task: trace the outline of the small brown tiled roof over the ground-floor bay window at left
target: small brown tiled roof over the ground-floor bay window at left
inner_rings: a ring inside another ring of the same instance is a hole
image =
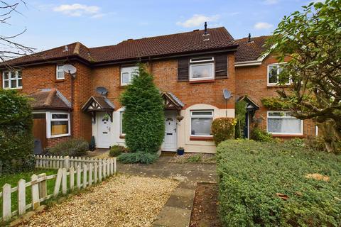
[[[41,89],[29,95],[33,109],[71,109],[71,104],[57,89]]]

